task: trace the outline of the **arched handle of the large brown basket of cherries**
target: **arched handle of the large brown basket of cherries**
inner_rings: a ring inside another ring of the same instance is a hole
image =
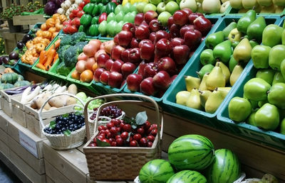
[[[111,97],[136,97],[138,99],[145,99],[146,101],[149,101],[154,107],[155,107],[155,111],[156,111],[156,117],[157,117],[157,123],[158,123],[158,127],[161,125],[161,130],[163,129],[163,114],[162,114],[162,118],[160,121],[160,107],[157,105],[156,101],[152,98],[150,98],[150,96],[144,96],[144,95],[139,95],[139,94],[107,94],[107,95],[102,95],[102,96],[97,96],[93,99],[90,99],[89,101],[86,102],[86,105],[84,106],[84,116],[85,117],[85,123],[86,123],[86,135],[87,135],[87,140],[90,140],[90,129],[89,129],[89,124],[88,124],[88,104],[90,103],[90,101],[93,101],[95,99],[105,99],[105,98],[111,98]],[[131,101],[131,100],[129,100]],[[117,101],[117,102],[124,102],[124,101]],[[138,102],[138,101],[137,101]],[[142,101],[140,101],[142,102]],[[108,103],[102,104],[98,107],[98,111],[97,113],[100,113],[100,110],[103,108],[103,106],[108,105]],[[96,115],[95,118],[95,129],[96,130],[96,125],[98,122],[98,118],[99,115]],[[160,128],[157,128],[157,134],[160,136],[160,138],[162,138],[162,133],[160,134]],[[160,144],[160,138],[158,138],[158,143]]]

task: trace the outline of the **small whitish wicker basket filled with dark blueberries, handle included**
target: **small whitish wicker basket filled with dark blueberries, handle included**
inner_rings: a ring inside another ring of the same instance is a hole
[[[56,116],[46,126],[43,124],[41,112],[50,99],[56,96],[68,95],[76,98],[84,106],[84,102],[73,94],[63,93],[50,96],[39,110],[39,121],[43,135],[50,141],[51,147],[56,150],[68,150],[82,145],[86,136],[84,116],[73,107],[71,111],[62,111],[61,116]],[[78,107],[78,105],[75,105]],[[81,106],[82,107],[82,106]],[[61,110],[61,109],[58,109]]]

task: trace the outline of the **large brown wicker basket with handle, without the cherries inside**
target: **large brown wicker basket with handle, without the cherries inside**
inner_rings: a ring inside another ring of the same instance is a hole
[[[114,104],[123,104],[129,103],[132,105],[144,104],[148,106],[152,106],[155,108],[155,118],[149,118],[148,120],[152,123],[161,124],[160,128],[157,129],[157,135],[155,137],[155,141],[153,142],[152,148],[130,148],[130,147],[89,147],[90,142],[95,138],[98,134],[98,118],[96,116],[95,119],[95,133],[90,138],[90,131],[88,128],[88,118],[85,118],[86,121],[86,133],[88,142],[83,147],[83,151],[86,155],[86,160],[88,164],[88,170],[90,179],[130,179],[133,180],[138,176],[140,172],[140,168],[145,165],[146,162],[160,158],[161,156],[161,148],[160,148],[160,140],[162,139],[162,129],[163,129],[163,114],[160,118],[160,108],[157,103],[150,98],[149,96],[142,96],[138,94],[109,94],[105,96],[98,96],[95,99],[100,98],[112,98],[112,97],[135,97],[140,100],[120,100],[120,101],[110,101],[105,104],[102,104],[98,108],[98,112],[100,112],[105,106],[110,106]],[[92,101],[91,99],[90,101]],[[88,115],[87,106],[89,104],[88,101],[86,103],[84,109],[84,115]],[[135,108],[134,108],[135,109]],[[128,114],[126,114],[128,115]]]

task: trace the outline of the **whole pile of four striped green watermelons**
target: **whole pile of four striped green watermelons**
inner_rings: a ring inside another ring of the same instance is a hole
[[[147,162],[140,170],[140,182],[230,183],[241,176],[237,155],[228,149],[214,150],[212,142],[202,135],[174,140],[168,148],[168,160]]]

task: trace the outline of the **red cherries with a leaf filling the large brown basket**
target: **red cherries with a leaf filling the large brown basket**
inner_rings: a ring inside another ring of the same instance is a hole
[[[114,112],[112,110],[114,110]],[[103,116],[110,115],[109,111],[112,111],[111,113],[118,113],[118,109],[115,109],[115,107],[105,108]],[[120,113],[118,113],[118,115],[119,114]],[[113,118],[106,126],[98,126],[98,134],[88,146],[152,148],[152,144],[157,135],[157,128],[157,124],[151,124],[147,121],[145,111],[138,113],[135,119],[131,120],[128,118],[124,118],[123,120]]]

